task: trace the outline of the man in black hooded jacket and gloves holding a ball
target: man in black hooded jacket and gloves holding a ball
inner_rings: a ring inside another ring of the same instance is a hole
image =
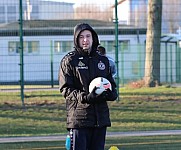
[[[86,23],[74,28],[75,50],[60,63],[60,92],[66,99],[67,129],[72,136],[73,150],[104,150],[107,127],[111,126],[107,101],[117,98],[116,84],[109,70],[107,57],[97,53],[97,33]],[[89,93],[89,84],[96,77],[108,79],[112,91]]]

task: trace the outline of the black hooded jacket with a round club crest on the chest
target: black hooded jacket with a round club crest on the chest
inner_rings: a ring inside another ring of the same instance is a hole
[[[93,43],[90,53],[85,53],[78,44],[78,37],[83,30],[92,33]],[[98,36],[91,26],[81,23],[74,28],[75,50],[61,60],[59,68],[59,88],[66,100],[67,128],[87,128],[111,126],[109,108],[106,101],[89,104],[89,84],[96,77],[107,78],[116,92],[109,60],[97,52]],[[113,99],[115,100],[115,99]]]

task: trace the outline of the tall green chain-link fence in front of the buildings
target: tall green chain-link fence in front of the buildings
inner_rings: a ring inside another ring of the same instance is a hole
[[[180,35],[173,21],[165,18],[169,1],[163,3],[163,37],[161,39],[161,82],[181,82]],[[180,23],[180,3],[171,4],[177,12],[173,20]],[[130,6],[125,7],[125,6]],[[87,22],[97,31],[107,55],[118,63],[119,85],[144,77],[147,1],[58,2],[23,0],[0,2],[0,85],[1,89],[19,88],[21,74],[25,88],[58,86],[61,58],[73,50],[73,27]],[[124,12],[123,12],[124,8]],[[170,8],[170,7],[169,7]],[[21,11],[20,11],[21,10]],[[20,14],[22,12],[22,14]],[[116,29],[115,13],[118,16]],[[23,25],[23,55],[20,53],[20,23]],[[172,35],[169,24],[173,25]],[[116,39],[115,32],[118,30]],[[179,30],[180,31],[180,30]],[[116,40],[118,49],[116,49]],[[116,53],[117,51],[117,53]],[[116,56],[118,55],[118,57]],[[21,58],[23,57],[23,62]],[[118,60],[116,60],[118,58]],[[23,64],[22,64],[23,63]],[[24,70],[21,72],[21,65]]]

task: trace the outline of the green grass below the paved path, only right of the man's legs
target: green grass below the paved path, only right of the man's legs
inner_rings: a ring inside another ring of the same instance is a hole
[[[107,139],[105,149],[109,149],[111,146],[117,146],[119,150],[179,150],[181,147],[181,136],[146,136]]]

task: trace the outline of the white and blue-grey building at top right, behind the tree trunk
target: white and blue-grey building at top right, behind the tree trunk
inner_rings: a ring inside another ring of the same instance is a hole
[[[147,27],[148,0],[119,0],[119,24]],[[181,27],[181,1],[163,0],[162,2],[162,33],[176,33]],[[115,9],[115,5],[112,7]],[[113,11],[115,13],[115,11]],[[115,14],[113,14],[115,16]],[[115,18],[115,17],[114,17]]]

